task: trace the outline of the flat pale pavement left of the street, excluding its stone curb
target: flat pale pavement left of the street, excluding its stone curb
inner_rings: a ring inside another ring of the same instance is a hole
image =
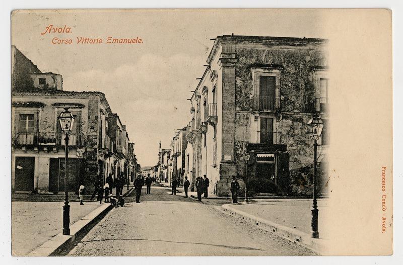
[[[12,254],[29,252],[62,231],[63,203],[61,202],[12,202]],[[91,213],[100,205],[87,202],[70,203],[70,224]]]

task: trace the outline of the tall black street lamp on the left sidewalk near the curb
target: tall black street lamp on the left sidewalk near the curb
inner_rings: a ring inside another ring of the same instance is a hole
[[[65,160],[64,160],[64,205],[63,205],[63,235],[70,235],[70,205],[67,191],[67,180],[69,178],[69,133],[72,131],[74,117],[69,108],[64,108],[59,115],[59,122],[62,132],[65,134]]]

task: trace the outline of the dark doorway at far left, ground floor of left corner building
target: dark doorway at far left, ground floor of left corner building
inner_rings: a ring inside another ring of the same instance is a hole
[[[32,192],[34,190],[35,157],[16,157],[15,190]]]

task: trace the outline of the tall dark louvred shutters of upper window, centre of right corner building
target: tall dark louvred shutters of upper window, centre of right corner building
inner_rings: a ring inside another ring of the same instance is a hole
[[[259,108],[274,110],[276,102],[276,77],[260,76],[259,79]]]

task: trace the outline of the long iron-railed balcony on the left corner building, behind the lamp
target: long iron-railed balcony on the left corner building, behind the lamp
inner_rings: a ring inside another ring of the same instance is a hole
[[[13,144],[64,146],[64,137],[65,135],[62,132],[16,132],[13,137]],[[84,146],[82,133],[70,133],[69,145]]]

